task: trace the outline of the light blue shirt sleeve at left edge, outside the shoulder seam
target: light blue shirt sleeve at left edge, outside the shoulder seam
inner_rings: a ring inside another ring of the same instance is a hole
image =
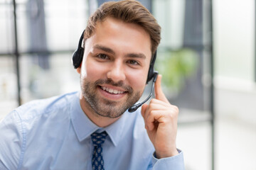
[[[16,111],[0,121],[0,169],[18,169],[21,164],[22,129],[21,119]]]

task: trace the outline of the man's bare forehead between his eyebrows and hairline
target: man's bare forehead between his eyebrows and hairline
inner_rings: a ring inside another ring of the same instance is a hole
[[[97,22],[94,33],[87,40],[90,39],[92,43],[107,45],[116,50],[144,52],[151,57],[150,35],[136,23],[125,23],[107,17],[104,21]]]

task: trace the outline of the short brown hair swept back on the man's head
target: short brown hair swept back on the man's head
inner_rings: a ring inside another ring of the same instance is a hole
[[[95,31],[97,22],[104,21],[108,16],[120,19],[125,23],[135,23],[142,26],[150,35],[151,52],[154,54],[161,40],[161,27],[156,18],[140,4],[134,0],[109,1],[97,8],[97,11],[90,16],[87,27],[85,28],[85,37],[90,38]]]

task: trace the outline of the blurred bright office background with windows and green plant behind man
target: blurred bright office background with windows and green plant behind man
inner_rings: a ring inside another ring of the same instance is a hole
[[[0,120],[22,103],[80,90],[71,57],[106,0],[0,0]],[[256,169],[253,0],[140,0],[159,21],[156,69],[180,108],[187,170]]]

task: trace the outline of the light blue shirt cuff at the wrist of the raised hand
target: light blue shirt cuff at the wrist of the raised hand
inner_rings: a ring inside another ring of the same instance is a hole
[[[184,160],[183,160],[183,152],[179,149],[178,154],[174,157],[166,157],[162,159],[157,159],[153,154],[152,155],[152,164],[153,170],[163,170],[163,169],[171,169],[171,170],[185,170]]]

